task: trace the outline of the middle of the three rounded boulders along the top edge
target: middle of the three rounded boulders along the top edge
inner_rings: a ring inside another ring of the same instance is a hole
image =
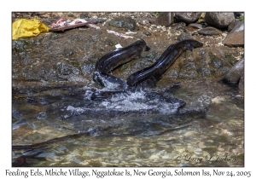
[[[198,12],[184,12],[184,13],[175,13],[175,19],[177,22],[185,22],[190,24],[199,19],[201,13]]]

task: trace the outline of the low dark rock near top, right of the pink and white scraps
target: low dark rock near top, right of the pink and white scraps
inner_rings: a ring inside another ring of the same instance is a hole
[[[130,31],[137,31],[139,27],[136,24],[136,21],[131,19],[131,17],[117,17],[113,20],[106,22],[105,26],[117,26],[119,28],[125,28]]]

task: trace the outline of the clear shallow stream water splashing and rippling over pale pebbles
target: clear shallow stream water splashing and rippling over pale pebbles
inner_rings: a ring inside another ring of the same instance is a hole
[[[229,86],[186,82],[165,93],[186,102],[179,114],[165,97],[150,98],[144,91],[91,101],[94,91],[14,93],[13,145],[49,141],[14,149],[14,165],[244,165],[244,106]]]

